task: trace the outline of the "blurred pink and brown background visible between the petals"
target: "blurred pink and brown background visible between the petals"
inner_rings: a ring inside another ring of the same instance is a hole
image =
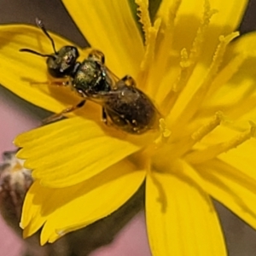
[[[59,33],[79,46],[85,47],[85,38],[67,14],[59,0],[0,0],[0,23],[35,24],[35,18],[44,20],[52,32]],[[256,30],[256,0],[250,0],[246,15],[241,22],[241,33]],[[1,67],[1,62],[0,62]],[[256,68],[256,67],[255,67]],[[49,116],[46,111],[32,106],[0,86],[0,154],[13,150],[13,139],[22,131],[40,125]],[[256,255],[256,231],[244,224],[232,212],[215,203],[223,224],[230,256]],[[149,256],[143,212],[137,214],[119,232],[115,240],[94,253],[93,256]],[[84,237],[84,240],[86,237]],[[20,256],[24,245],[0,216],[0,256]],[[84,254],[87,255],[87,254]]]

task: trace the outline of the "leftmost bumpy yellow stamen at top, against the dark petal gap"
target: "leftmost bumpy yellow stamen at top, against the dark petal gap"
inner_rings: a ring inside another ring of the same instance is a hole
[[[135,0],[138,5],[137,16],[140,18],[139,22],[143,25],[145,45],[148,45],[149,28],[151,27],[151,20],[148,12],[148,0]]]

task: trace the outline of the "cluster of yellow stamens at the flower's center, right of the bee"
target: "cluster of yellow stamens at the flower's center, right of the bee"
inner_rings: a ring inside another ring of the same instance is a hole
[[[155,169],[164,170],[166,155],[168,162],[184,159],[197,164],[255,137],[255,125],[251,122],[248,131],[241,132],[230,140],[207,146],[204,144],[203,147],[201,143],[205,137],[211,137],[212,131],[224,120],[224,113],[219,108],[215,106],[209,111],[205,102],[211,100],[212,95],[234,76],[245,60],[244,56],[236,55],[223,65],[227,46],[239,36],[239,32],[219,36],[215,50],[212,48],[212,52],[207,53],[209,24],[212,15],[218,11],[211,9],[206,0],[191,48],[186,46],[181,49],[179,56],[175,56],[178,60],[175,66],[172,64],[175,63],[173,45],[176,40],[177,13],[182,1],[173,1],[168,10],[164,10],[166,15],[161,15],[161,20],[156,18],[154,25],[148,15],[148,1],[136,0],[136,3],[139,6],[145,42],[145,55],[138,81],[165,117],[160,119],[160,137],[147,149],[154,166],[161,166]],[[204,55],[207,54],[212,56],[210,63],[207,63],[208,68],[203,63]],[[196,77],[198,70],[203,70],[200,78],[198,75]]]

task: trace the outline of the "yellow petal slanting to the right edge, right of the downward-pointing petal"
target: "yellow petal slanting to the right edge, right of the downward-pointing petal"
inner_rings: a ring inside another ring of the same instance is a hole
[[[196,169],[207,183],[207,192],[255,229],[255,178],[249,179],[246,170],[239,170],[222,160],[210,160]]]

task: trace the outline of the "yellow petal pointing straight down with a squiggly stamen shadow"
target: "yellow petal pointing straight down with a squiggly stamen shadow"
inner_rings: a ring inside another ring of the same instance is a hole
[[[146,218],[154,255],[226,255],[212,201],[188,177],[147,177]]]

